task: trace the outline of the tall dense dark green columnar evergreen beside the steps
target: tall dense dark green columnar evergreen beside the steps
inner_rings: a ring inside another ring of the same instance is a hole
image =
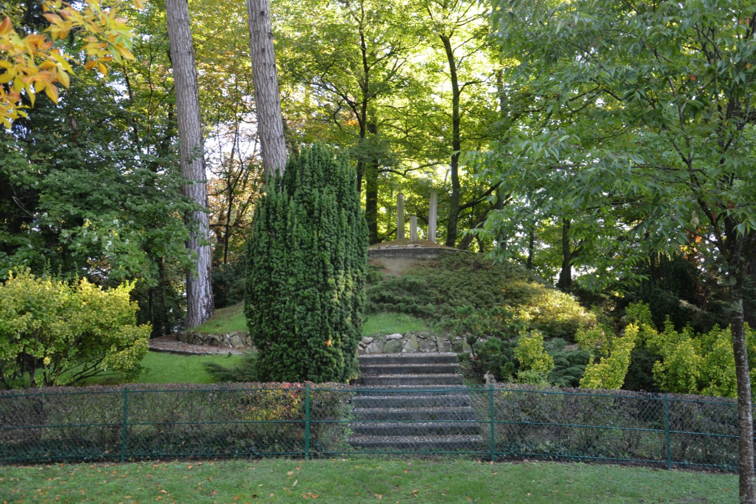
[[[289,160],[255,211],[246,314],[261,381],[346,381],[357,373],[367,226],[355,170],[314,146]]]

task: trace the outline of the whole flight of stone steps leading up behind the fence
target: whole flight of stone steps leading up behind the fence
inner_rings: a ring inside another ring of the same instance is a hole
[[[482,442],[455,353],[359,358],[349,444],[402,452],[476,451]]]

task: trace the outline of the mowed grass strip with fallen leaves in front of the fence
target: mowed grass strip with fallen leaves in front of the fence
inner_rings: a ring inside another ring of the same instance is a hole
[[[733,474],[469,460],[232,460],[0,467],[0,502],[737,502]]]

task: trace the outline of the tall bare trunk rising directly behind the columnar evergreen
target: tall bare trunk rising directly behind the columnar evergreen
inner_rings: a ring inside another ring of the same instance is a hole
[[[283,175],[287,161],[270,2],[247,0],[246,13],[249,25],[249,55],[252,58],[252,82],[255,86],[257,132],[260,138],[262,169],[267,182],[274,173]]]

